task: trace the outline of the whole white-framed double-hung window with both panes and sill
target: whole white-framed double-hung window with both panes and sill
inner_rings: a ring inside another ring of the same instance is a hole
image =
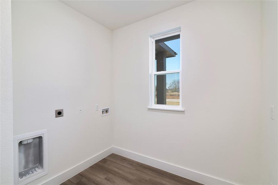
[[[151,37],[150,109],[181,107],[180,30]]]

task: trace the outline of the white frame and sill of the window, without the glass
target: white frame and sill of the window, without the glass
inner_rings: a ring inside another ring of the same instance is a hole
[[[161,34],[150,36],[150,104],[148,109],[161,109],[161,110],[175,110],[175,111],[184,111],[182,109],[182,101],[181,101],[181,94],[182,94],[182,80],[181,80],[181,42],[180,42],[180,69],[179,70],[171,70],[171,71],[160,71],[156,72],[155,69],[155,56],[156,56],[156,48],[155,48],[155,41],[158,39],[163,39],[166,37],[180,35],[181,40],[181,30],[175,29],[172,31],[164,32]],[[179,73],[180,75],[180,105],[160,105],[155,104],[155,75],[158,74],[172,74],[172,73]]]

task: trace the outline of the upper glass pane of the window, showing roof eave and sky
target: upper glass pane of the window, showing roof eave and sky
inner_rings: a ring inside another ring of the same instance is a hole
[[[174,35],[155,41],[155,71],[180,69],[180,35]]]

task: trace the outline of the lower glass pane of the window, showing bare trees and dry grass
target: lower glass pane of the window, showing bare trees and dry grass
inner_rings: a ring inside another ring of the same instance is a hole
[[[180,73],[155,75],[155,104],[180,105]]]

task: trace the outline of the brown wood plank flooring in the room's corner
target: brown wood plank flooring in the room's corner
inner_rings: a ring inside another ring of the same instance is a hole
[[[202,185],[146,164],[110,154],[61,185]]]

